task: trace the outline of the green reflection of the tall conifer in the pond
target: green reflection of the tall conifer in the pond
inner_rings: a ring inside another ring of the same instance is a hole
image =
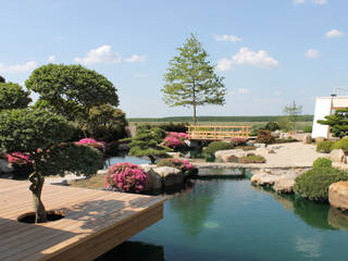
[[[182,227],[190,236],[197,236],[203,228],[219,226],[207,222],[212,213],[214,200],[223,192],[224,181],[195,181],[195,189],[185,196],[174,197],[170,207],[179,216]]]

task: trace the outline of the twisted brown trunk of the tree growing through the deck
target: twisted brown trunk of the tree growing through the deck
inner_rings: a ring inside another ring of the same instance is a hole
[[[35,210],[35,223],[41,223],[47,221],[47,212],[41,201],[41,192],[45,183],[45,177],[38,172],[33,172],[29,176],[32,185],[29,189],[33,192],[33,207]]]

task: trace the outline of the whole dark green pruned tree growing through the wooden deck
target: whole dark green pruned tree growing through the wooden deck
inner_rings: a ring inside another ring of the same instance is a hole
[[[16,109],[0,113],[0,149],[12,157],[21,152],[33,163],[29,189],[36,223],[47,221],[41,201],[45,176],[63,176],[65,171],[91,175],[102,166],[102,156],[97,149],[63,142],[72,132],[71,124],[63,116],[49,111]]]

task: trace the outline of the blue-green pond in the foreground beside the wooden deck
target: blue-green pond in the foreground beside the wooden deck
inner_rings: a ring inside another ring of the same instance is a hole
[[[98,260],[347,260],[348,215],[248,179],[194,181],[164,219]]]

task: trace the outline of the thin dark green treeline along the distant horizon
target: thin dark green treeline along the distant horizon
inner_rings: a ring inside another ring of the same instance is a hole
[[[264,116],[198,116],[198,122],[277,122],[284,115],[264,115]],[[128,117],[128,122],[191,122],[191,116],[173,117]],[[299,115],[298,122],[312,122],[313,115]]]

